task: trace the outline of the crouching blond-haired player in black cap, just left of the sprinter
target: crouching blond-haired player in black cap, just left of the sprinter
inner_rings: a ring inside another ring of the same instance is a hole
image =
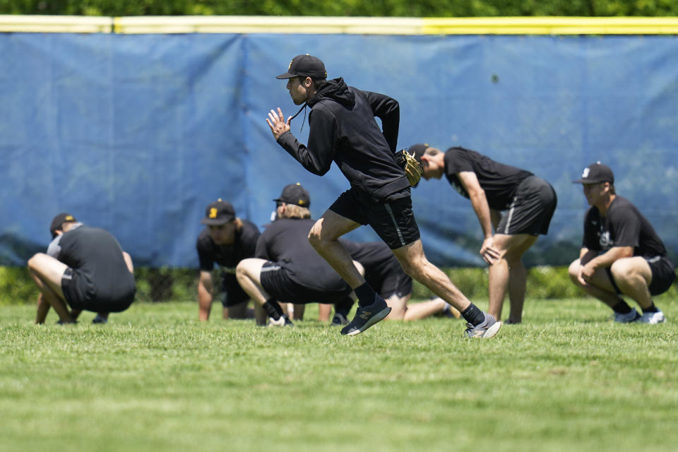
[[[309,192],[300,184],[285,186],[276,203],[276,218],[256,243],[256,258],[236,269],[238,282],[270,317],[271,326],[290,325],[278,302],[335,303],[351,295],[351,287],[309,243],[314,225]]]

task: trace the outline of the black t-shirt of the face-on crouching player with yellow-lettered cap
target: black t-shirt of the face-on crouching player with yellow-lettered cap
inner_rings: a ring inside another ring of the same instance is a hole
[[[208,227],[198,235],[196,249],[201,271],[211,271],[217,263],[222,269],[235,271],[240,261],[254,257],[259,230],[248,220],[242,220],[242,230],[235,233],[235,242],[231,245],[218,245],[210,237]]]

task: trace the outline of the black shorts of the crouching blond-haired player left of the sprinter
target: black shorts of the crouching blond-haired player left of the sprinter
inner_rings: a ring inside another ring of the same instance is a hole
[[[261,287],[268,295],[283,303],[335,303],[345,299],[351,292],[350,285],[343,290],[315,290],[293,281],[287,269],[278,263],[267,261],[261,268]]]

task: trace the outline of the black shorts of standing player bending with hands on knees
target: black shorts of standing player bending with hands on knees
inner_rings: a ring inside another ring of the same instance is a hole
[[[530,176],[516,187],[511,206],[501,215],[497,234],[546,235],[558,198],[556,191],[544,179]]]

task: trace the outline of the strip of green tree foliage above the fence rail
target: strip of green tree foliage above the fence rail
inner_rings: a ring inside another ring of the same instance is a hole
[[[0,0],[1,14],[76,16],[678,16],[672,0]]]

